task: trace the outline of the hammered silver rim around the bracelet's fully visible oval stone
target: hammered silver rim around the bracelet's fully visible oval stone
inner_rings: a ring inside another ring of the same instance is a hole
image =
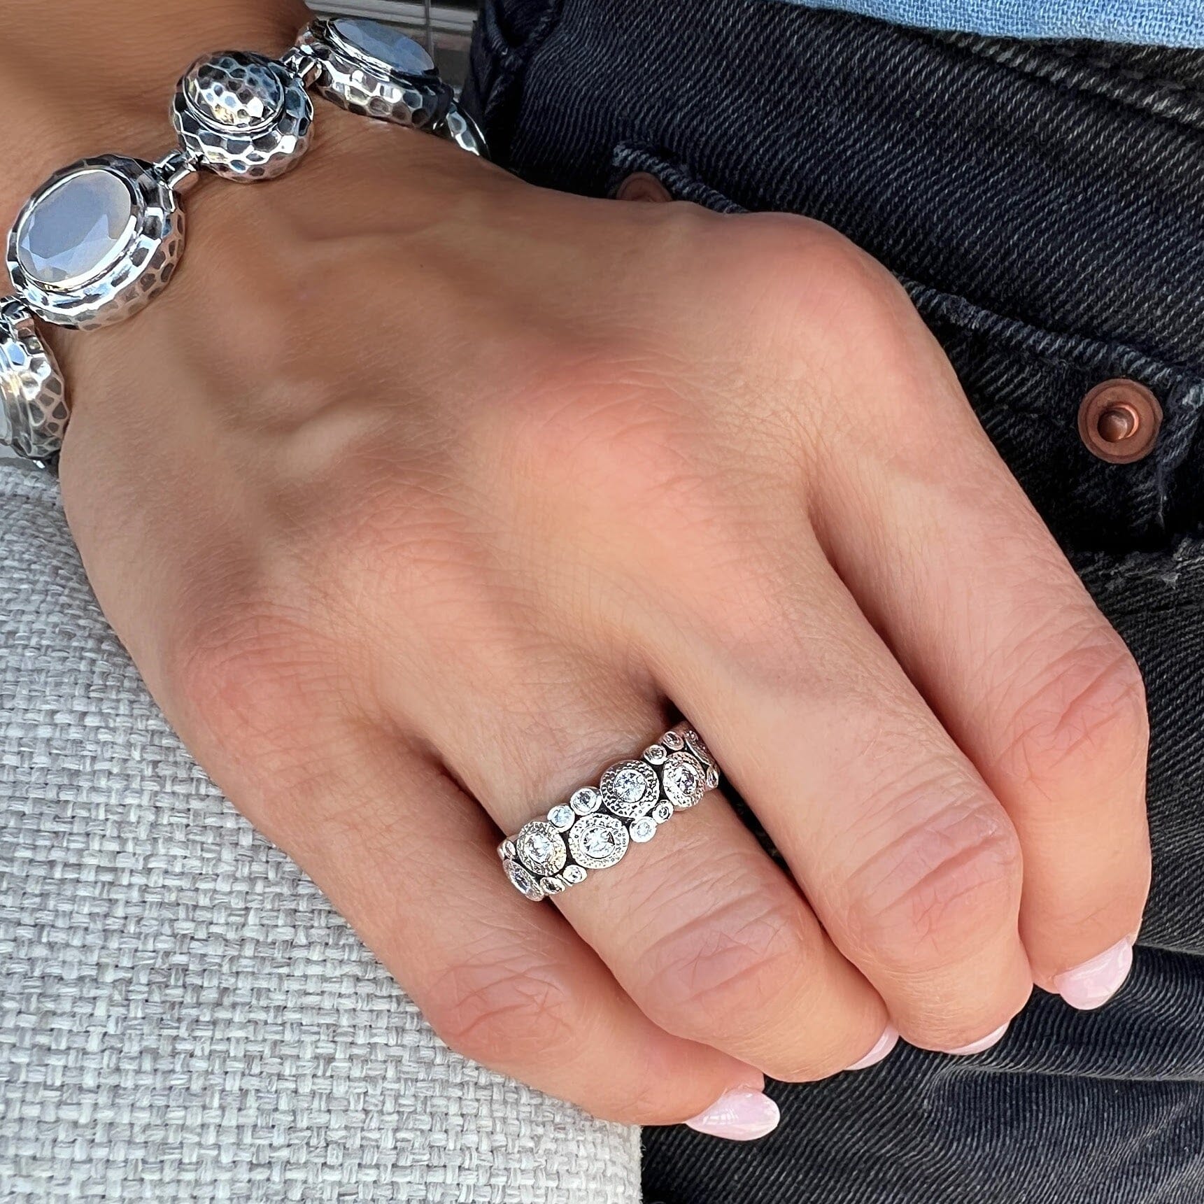
[[[131,219],[119,246],[84,278],[36,277],[20,250],[39,206],[85,173],[110,173],[129,189]],[[95,330],[132,317],[166,287],[184,249],[184,212],[154,164],[126,155],[95,155],[60,167],[22,206],[8,232],[7,266],[17,295],[57,326]]]

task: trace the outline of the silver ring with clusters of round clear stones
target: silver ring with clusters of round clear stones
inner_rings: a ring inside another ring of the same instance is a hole
[[[596,786],[583,786],[498,846],[510,885],[532,902],[616,866],[632,843],[656,836],[677,811],[719,785],[719,765],[702,737],[678,724],[636,759],[616,761]]]

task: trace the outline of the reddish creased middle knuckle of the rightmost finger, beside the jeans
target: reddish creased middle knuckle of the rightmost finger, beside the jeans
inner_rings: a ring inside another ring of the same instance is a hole
[[[1008,725],[998,768],[1023,786],[1092,765],[1109,778],[1144,771],[1149,719],[1141,672],[1109,631],[1050,661]]]

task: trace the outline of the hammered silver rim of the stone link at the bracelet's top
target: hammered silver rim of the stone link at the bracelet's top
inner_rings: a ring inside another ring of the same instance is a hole
[[[396,71],[343,37],[326,17],[311,22],[296,46],[318,64],[314,92],[341,108],[418,130],[447,119],[453,93],[437,71]]]

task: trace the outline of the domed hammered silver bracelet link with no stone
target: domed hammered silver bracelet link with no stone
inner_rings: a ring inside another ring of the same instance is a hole
[[[219,51],[181,77],[171,123],[189,160],[235,183],[275,179],[309,149],[313,101],[305,82],[262,54]]]

